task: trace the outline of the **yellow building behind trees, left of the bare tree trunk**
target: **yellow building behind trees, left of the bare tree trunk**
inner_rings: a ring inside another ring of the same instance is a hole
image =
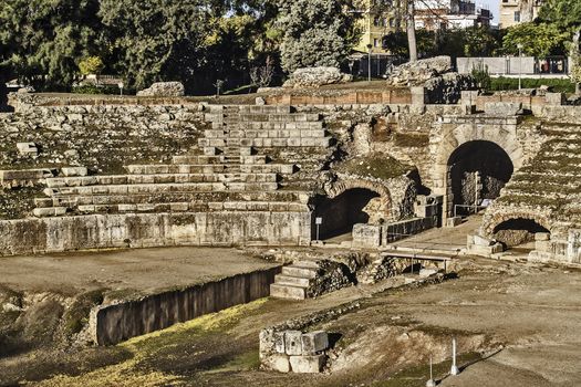
[[[362,38],[355,51],[374,54],[387,54],[383,49],[383,36],[390,32],[405,30],[406,0],[365,0],[364,9],[360,10]]]

